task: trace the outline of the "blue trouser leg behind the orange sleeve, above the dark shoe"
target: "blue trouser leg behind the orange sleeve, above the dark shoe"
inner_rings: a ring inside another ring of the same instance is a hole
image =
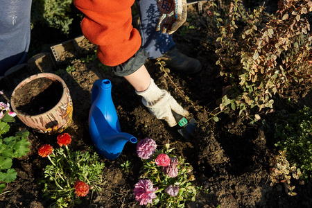
[[[137,0],[136,6],[140,15],[138,30],[142,38],[141,48],[148,52],[148,58],[158,58],[171,49],[175,42],[172,35],[156,31],[159,19],[156,0]]]

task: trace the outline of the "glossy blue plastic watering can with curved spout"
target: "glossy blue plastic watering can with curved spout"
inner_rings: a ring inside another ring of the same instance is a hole
[[[110,80],[96,80],[92,86],[92,106],[89,112],[89,132],[96,150],[107,159],[116,159],[127,141],[137,138],[121,132],[119,119],[112,101]]]

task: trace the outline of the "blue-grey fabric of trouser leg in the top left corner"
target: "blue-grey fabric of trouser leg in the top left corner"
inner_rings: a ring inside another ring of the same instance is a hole
[[[31,41],[31,0],[0,2],[0,76],[3,76],[26,57]]]

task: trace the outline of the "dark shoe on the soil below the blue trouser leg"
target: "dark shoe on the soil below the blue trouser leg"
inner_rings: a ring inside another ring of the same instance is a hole
[[[166,66],[169,69],[178,73],[192,74],[202,69],[202,64],[199,60],[180,53],[176,46],[173,46],[159,58],[166,62]]]

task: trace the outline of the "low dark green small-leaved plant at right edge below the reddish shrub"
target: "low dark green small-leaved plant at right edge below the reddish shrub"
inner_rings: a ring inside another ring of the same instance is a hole
[[[312,176],[312,110],[304,107],[275,124],[275,146],[287,151],[287,158],[301,169],[302,177]]]

